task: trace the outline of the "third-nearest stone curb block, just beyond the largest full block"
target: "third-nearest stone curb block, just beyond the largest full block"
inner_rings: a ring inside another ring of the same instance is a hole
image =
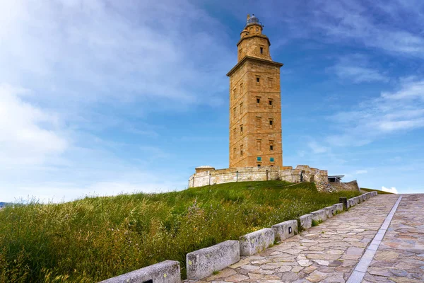
[[[240,255],[254,255],[273,245],[274,233],[271,228],[264,228],[259,231],[248,233],[239,238]]]

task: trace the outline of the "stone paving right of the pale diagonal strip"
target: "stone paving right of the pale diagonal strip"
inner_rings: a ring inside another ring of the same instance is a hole
[[[363,282],[424,282],[424,195],[402,195]]]

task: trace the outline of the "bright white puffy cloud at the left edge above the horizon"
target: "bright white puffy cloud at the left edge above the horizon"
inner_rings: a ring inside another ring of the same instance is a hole
[[[56,115],[25,102],[25,93],[28,90],[0,85],[0,166],[42,164],[69,144]]]

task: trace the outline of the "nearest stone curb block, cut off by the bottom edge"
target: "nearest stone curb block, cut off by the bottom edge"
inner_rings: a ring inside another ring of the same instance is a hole
[[[103,280],[99,283],[141,283],[149,281],[155,283],[180,283],[181,274],[179,262],[165,260],[163,262],[156,263],[155,265],[143,267],[139,270],[134,270],[117,277]]]

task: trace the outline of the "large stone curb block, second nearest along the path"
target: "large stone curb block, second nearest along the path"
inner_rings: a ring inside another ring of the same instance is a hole
[[[187,253],[187,279],[202,279],[239,260],[239,241],[229,240],[215,246],[194,250],[192,253]]]

